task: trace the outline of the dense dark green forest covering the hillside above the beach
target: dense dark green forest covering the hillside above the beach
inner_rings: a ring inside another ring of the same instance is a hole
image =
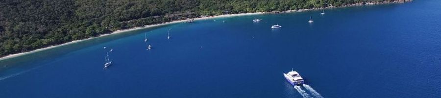
[[[395,0],[1,0],[0,56],[225,11],[270,12],[382,1]]]

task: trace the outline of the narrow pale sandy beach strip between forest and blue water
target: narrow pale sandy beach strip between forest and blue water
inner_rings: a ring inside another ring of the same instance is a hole
[[[214,18],[247,16],[247,15],[294,13],[294,12],[304,12],[304,11],[330,9],[330,8],[342,8],[342,7],[350,7],[350,6],[368,6],[368,5],[379,5],[379,4],[390,4],[390,3],[405,3],[405,2],[410,2],[410,1],[412,1],[412,0],[402,0],[402,1],[392,1],[392,2],[391,1],[366,2],[366,3],[354,3],[354,4],[342,5],[342,6],[337,6],[337,7],[336,6],[330,6],[330,7],[322,7],[322,8],[310,8],[310,9],[287,10],[287,11],[271,11],[271,12],[225,14],[225,15],[199,17],[199,18],[191,18],[191,19],[194,20],[194,21],[197,21],[197,20],[207,20],[207,19],[214,19]],[[9,54],[9,55],[0,57],[0,60],[6,60],[6,59],[10,59],[10,58],[15,58],[15,57],[23,56],[23,55],[30,54],[30,53],[35,53],[35,52],[39,52],[39,51],[43,51],[43,50],[48,50],[48,49],[53,49],[53,48],[57,48],[57,47],[61,47],[61,46],[71,45],[71,44],[74,44],[74,43],[83,42],[83,41],[90,40],[90,39],[95,39],[95,38],[101,38],[101,37],[108,36],[108,35],[114,35],[114,34],[119,34],[119,33],[128,32],[128,31],[147,29],[147,28],[156,27],[156,26],[172,25],[172,24],[185,23],[185,22],[187,22],[187,20],[175,20],[175,21],[172,21],[172,22],[166,22],[166,23],[161,23],[161,24],[153,24],[153,25],[145,25],[145,26],[142,26],[142,27],[135,27],[135,28],[129,28],[129,29],[121,29],[121,30],[112,31],[112,32],[106,33],[106,34],[100,34],[100,35],[98,35],[96,37],[90,37],[90,38],[82,39],[82,40],[74,40],[74,41],[63,43],[63,44],[59,44],[59,45],[49,46],[49,47],[45,47],[45,48],[41,48],[41,49],[35,49],[35,50],[21,52],[21,53]]]

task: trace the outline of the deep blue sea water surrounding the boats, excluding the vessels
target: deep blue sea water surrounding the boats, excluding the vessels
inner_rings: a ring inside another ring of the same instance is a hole
[[[0,61],[0,97],[302,98],[282,74],[293,68],[325,98],[438,98],[440,4],[219,18],[106,36]],[[109,49],[113,65],[103,70]]]

